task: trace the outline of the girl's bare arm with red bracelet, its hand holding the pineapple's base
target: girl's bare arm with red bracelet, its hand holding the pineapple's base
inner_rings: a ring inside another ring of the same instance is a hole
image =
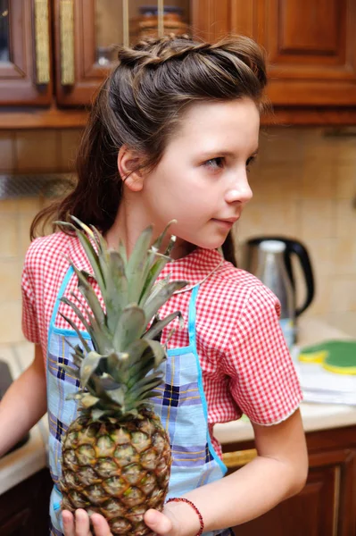
[[[204,532],[246,523],[275,507],[304,487],[308,455],[299,410],[272,426],[253,425],[258,456],[227,477],[186,493],[203,515]],[[90,534],[87,514],[78,510],[77,526],[69,512],[63,515],[65,536]],[[101,515],[93,515],[95,536],[109,536]],[[145,523],[161,536],[195,536],[200,523],[183,502],[169,503],[161,514],[149,510]]]

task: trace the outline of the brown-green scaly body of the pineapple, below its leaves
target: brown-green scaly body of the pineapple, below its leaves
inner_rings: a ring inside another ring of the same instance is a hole
[[[144,514],[162,510],[170,465],[170,440],[153,411],[126,422],[79,415],[62,441],[62,509],[102,514],[112,534],[153,535]]]

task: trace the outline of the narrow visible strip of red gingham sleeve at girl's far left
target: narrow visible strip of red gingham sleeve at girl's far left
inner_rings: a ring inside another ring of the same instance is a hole
[[[33,255],[33,244],[25,256],[25,263],[22,270],[21,294],[22,294],[22,332],[29,342],[35,344],[40,342],[37,307],[36,307],[36,269]]]

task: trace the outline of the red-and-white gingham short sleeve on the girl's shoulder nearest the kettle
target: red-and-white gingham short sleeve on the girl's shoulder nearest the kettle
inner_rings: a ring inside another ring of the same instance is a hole
[[[277,297],[253,288],[225,355],[230,392],[253,423],[277,424],[302,401],[302,389],[279,325]]]

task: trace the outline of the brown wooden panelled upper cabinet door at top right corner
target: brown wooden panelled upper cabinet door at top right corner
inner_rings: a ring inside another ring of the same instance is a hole
[[[356,105],[354,0],[232,0],[231,25],[269,56],[274,105]]]

